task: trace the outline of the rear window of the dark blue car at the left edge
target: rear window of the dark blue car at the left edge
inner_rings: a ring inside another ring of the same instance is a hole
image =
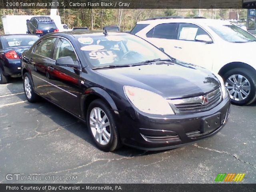
[[[14,46],[28,46],[34,44],[38,40],[38,36],[34,35],[23,35],[23,36],[5,36],[5,47],[14,47]]]

